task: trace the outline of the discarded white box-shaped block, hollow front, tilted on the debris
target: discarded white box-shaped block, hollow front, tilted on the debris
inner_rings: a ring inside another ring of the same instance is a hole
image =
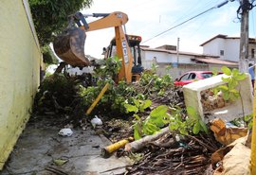
[[[201,116],[203,121],[209,122],[213,118],[222,118],[231,121],[235,118],[242,117],[253,113],[253,95],[250,77],[246,74],[246,79],[239,81],[237,89],[241,97],[237,98],[229,105],[210,111],[206,114],[201,103],[201,92],[212,89],[227,82],[222,80],[226,75],[219,75],[209,79],[201,79],[183,86],[183,93],[186,106],[192,106]]]

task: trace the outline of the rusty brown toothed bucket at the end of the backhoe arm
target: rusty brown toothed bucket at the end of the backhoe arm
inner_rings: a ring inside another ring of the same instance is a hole
[[[53,42],[56,55],[72,66],[88,66],[90,61],[84,55],[86,35],[79,27],[68,27]]]

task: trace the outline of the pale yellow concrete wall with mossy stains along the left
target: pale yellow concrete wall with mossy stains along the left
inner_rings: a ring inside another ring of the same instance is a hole
[[[25,128],[39,86],[42,55],[29,15],[26,0],[0,1],[0,170]]]

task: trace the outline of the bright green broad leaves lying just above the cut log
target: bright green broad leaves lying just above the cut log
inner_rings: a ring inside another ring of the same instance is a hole
[[[185,119],[181,115],[181,108],[172,108],[172,114],[168,114],[168,107],[166,105],[160,105],[156,107],[145,120],[142,120],[138,113],[144,112],[144,109],[148,108],[150,105],[151,101],[148,100],[135,100],[134,105],[125,104],[127,112],[135,113],[134,116],[137,119],[134,124],[134,137],[136,140],[143,135],[155,134],[155,132],[160,131],[161,128],[167,124],[169,124],[171,131],[184,135],[189,133],[198,134],[199,131],[209,132],[206,124],[191,106],[187,108],[189,117]]]

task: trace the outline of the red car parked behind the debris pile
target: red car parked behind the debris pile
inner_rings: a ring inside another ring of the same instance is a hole
[[[219,72],[218,75],[219,74],[223,74],[223,73]],[[190,71],[183,74],[180,78],[175,79],[174,85],[183,86],[183,85],[192,83],[195,80],[208,79],[208,78],[211,78],[212,76],[213,76],[212,71]]]

